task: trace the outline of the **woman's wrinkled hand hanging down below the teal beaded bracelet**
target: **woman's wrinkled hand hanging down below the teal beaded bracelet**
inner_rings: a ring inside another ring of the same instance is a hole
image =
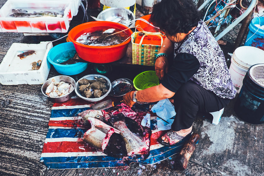
[[[159,57],[155,62],[155,71],[159,79],[163,79],[165,73],[168,73],[168,59],[166,56]]]

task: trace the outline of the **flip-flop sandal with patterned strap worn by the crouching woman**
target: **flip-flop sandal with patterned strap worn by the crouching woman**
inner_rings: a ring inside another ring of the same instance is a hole
[[[175,131],[173,131],[173,130],[170,130],[170,131],[168,131],[167,133],[165,133],[163,136],[165,137],[165,138],[167,138],[168,139],[168,141],[169,141],[169,143],[167,143],[167,142],[164,142],[162,139],[161,139],[161,137],[158,139],[158,141],[159,141],[159,143],[161,143],[162,145],[165,145],[165,146],[173,146],[173,145],[176,145],[178,142],[175,142],[175,140],[182,140],[182,139],[184,139],[184,138],[186,138],[187,136],[190,136],[191,134],[193,133],[193,130],[189,133],[189,134],[187,134],[186,136],[180,136],[180,135],[178,135]],[[179,142],[180,142],[179,141]]]

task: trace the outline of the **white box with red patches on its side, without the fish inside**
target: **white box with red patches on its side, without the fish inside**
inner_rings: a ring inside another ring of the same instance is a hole
[[[23,2],[23,3],[22,3]],[[67,32],[69,20],[72,19],[70,11],[72,1],[44,1],[44,0],[7,0],[0,9],[0,25],[3,32]],[[64,8],[63,17],[41,16],[34,18],[12,17],[12,9],[34,11],[56,11]]]

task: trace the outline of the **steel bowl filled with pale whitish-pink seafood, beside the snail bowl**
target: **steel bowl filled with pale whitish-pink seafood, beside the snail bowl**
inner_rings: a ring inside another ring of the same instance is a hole
[[[76,82],[70,76],[54,76],[44,82],[41,92],[55,103],[69,100],[74,94]]]

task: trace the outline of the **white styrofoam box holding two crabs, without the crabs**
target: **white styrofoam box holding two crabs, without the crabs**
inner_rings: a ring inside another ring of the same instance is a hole
[[[50,64],[47,61],[52,43],[39,44],[13,43],[0,64],[0,83],[3,85],[43,84],[49,74]],[[35,54],[20,59],[17,55],[34,50]],[[42,60],[39,70],[32,70],[32,62]]]

